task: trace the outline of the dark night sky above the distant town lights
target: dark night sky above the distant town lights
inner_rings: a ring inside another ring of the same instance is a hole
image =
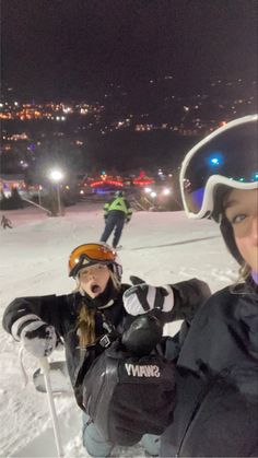
[[[256,0],[2,0],[1,79],[17,93],[80,96],[173,74],[256,78]]]

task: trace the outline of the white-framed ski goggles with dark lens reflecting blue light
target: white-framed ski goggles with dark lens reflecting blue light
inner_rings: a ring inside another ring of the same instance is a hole
[[[196,144],[180,171],[180,190],[189,218],[212,215],[219,187],[258,188],[258,115],[228,122]]]

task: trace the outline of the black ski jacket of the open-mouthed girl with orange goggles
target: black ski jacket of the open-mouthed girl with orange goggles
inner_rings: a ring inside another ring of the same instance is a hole
[[[112,324],[115,329],[122,333],[133,317],[126,313],[122,304],[122,294],[130,287],[122,284],[116,300],[112,305],[95,312],[96,337],[102,338],[107,333],[104,321]],[[176,319],[191,320],[196,310],[204,304],[210,296],[207,283],[192,279],[172,285],[174,291],[174,307],[169,314],[164,314],[164,322]],[[7,332],[11,333],[12,325],[25,315],[34,314],[43,321],[52,325],[57,334],[61,338],[66,350],[68,372],[73,386],[79,406],[82,406],[82,383],[85,373],[93,361],[105,350],[99,343],[87,348],[84,353],[79,348],[77,334],[77,319],[82,301],[87,306],[87,298],[80,293],[68,295],[48,295],[37,297],[17,297],[5,309],[2,325]]]

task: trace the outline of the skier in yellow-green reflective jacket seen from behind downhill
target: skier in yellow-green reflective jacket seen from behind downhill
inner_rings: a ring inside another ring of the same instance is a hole
[[[119,248],[118,243],[121,237],[122,228],[125,223],[129,223],[132,215],[130,203],[125,198],[124,191],[116,191],[115,199],[105,203],[104,205],[104,219],[105,230],[101,236],[101,242],[107,242],[112,232],[114,232],[113,247]]]

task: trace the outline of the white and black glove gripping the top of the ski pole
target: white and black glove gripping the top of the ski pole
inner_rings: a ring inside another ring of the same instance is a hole
[[[56,330],[39,319],[28,322],[21,331],[21,342],[33,356],[49,356],[57,344]]]

